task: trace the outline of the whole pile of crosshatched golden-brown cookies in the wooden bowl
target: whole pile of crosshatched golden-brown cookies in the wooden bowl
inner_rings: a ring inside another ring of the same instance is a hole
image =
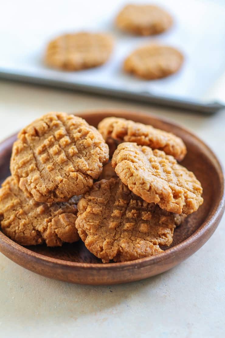
[[[51,113],[19,133],[12,175],[0,190],[8,237],[48,246],[81,238],[104,263],[158,254],[172,243],[175,227],[203,202],[200,182],[177,163],[184,142],[115,117],[98,129]]]

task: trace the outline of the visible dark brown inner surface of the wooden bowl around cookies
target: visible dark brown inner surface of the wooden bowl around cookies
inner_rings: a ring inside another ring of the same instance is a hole
[[[110,115],[109,115],[110,116]],[[98,122],[101,121],[103,117],[100,114],[89,115],[85,114],[83,116],[88,123],[97,126]],[[195,142],[195,138],[190,136],[187,132],[180,129],[179,127],[169,125],[158,121],[154,118],[147,117],[138,117],[137,119],[134,116],[124,116],[125,118],[138,120],[138,122],[142,122],[145,124],[152,124],[155,127],[162,128],[167,131],[174,132],[174,134],[182,137],[187,145],[188,153],[181,162],[182,165],[186,166],[189,170],[193,171],[196,177],[200,180],[203,187],[203,198],[204,203],[199,208],[199,210],[192,215],[189,215],[186,220],[175,229],[173,242],[170,247],[177,245],[191,236],[198,227],[204,222],[206,219],[210,209],[212,208],[212,201],[214,200],[214,194],[216,192],[216,187],[218,187],[218,175],[216,172],[213,163],[208,159],[206,154],[202,151],[201,145],[198,145]],[[14,138],[15,140],[15,138]],[[8,142],[4,148],[4,161],[0,161],[0,183],[10,175],[9,171],[9,161],[11,155],[11,147],[12,147],[13,139]],[[1,148],[1,151],[3,148]],[[74,244],[63,244],[62,247],[49,248],[46,245],[37,245],[37,246],[28,246],[32,251],[38,252],[39,254],[58,258],[66,261],[72,262],[84,262],[84,263],[101,263],[101,260],[92,255],[85,247],[84,243],[80,240]]]

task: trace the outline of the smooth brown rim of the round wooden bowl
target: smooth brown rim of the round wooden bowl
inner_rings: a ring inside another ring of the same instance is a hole
[[[195,243],[195,241],[200,240],[201,237],[203,237],[203,235],[205,234],[205,232],[208,231],[208,229],[213,226],[217,221],[219,221],[223,215],[224,209],[225,209],[225,187],[224,187],[224,170],[223,170],[223,166],[221,165],[219,159],[217,158],[217,156],[215,155],[215,153],[213,152],[213,150],[206,145],[201,139],[199,139],[195,134],[193,134],[191,131],[189,131],[187,128],[180,126],[177,123],[173,123],[171,122],[169,119],[166,118],[159,118],[156,115],[153,114],[148,114],[148,113],[144,113],[144,112],[137,112],[137,111],[129,111],[129,110],[120,110],[120,109],[115,109],[115,110],[110,110],[110,109],[99,109],[99,110],[87,110],[87,111],[83,111],[83,112],[78,112],[76,113],[76,115],[82,117],[85,114],[90,114],[90,115],[94,115],[94,114],[100,114],[100,115],[109,115],[109,116],[120,116],[122,114],[129,114],[133,117],[136,117],[137,114],[138,116],[142,116],[142,117],[149,117],[152,119],[156,119],[159,120],[160,122],[163,122],[165,124],[168,125],[172,125],[175,126],[181,130],[184,130],[184,132],[187,134],[189,134],[192,138],[194,138],[198,143],[200,143],[204,148],[206,148],[208,150],[208,152],[213,156],[214,160],[215,160],[215,164],[217,164],[218,169],[217,172],[220,176],[220,181],[221,181],[221,187],[220,187],[220,193],[219,193],[219,197],[217,198],[217,203],[214,206],[214,208],[212,210],[210,210],[209,215],[207,216],[207,219],[201,224],[201,226],[190,236],[188,237],[186,240],[182,241],[181,243],[173,246],[172,248],[169,248],[167,250],[165,250],[164,252],[162,252],[161,254],[158,255],[153,255],[153,256],[149,256],[146,258],[141,258],[141,259],[137,259],[134,261],[128,261],[128,262],[117,262],[117,263],[81,263],[81,262],[71,262],[71,261],[65,261],[65,260],[61,260],[61,259],[57,259],[57,258],[52,258],[49,256],[45,256],[45,255],[41,255],[38,254],[26,247],[23,247],[22,245],[12,241],[10,238],[8,238],[7,236],[5,236],[1,231],[0,231],[0,239],[3,241],[3,244],[8,247],[10,246],[13,250],[18,250],[21,252],[21,254],[26,255],[26,256],[30,256],[30,257],[34,257],[39,259],[40,261],[44,261],[44,262],[48,262],[48,263],[52,263],[54,265],[59,265],[59,266],[64,266],[64,267],[74,267],[74,268],[84,268],[84,269],[104,269],[104,270],[108,270],[108,269],[132,269],[135,267],[138,267],[138,265],[141,264],[142,267],[145,266],[149,266],[152,264],[157,264],[161,261],[163,261],[164,259],[166,260],[169,256],[172,256],[174,254],[178,254],[179,252],[182,252],[182,250],[185,250],[188,246],[191,246],[193,243]],[[3,145],[5,144],[10,144],[12,142],[13,139],[15,139],[17,136],[16,134],[13,134],[12,136],[6,138],[5,140],[3,140],[0,143],[0,151],[2,150],[1,148],[3,147]]]

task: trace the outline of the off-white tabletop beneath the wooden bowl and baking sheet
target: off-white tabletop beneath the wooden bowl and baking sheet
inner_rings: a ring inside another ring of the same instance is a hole
[[[224,90],[223,83],[220,80],[214,91]],[[141,109],[183,124],[212,147],[225,166],[225,111],[203,116],[4,81],[0,139],[49,111],[103,107]],[[177,267],[125,285],[58,282],[0,254],[0,337],[224,337],[224,225],[223,217],[208,242]]]

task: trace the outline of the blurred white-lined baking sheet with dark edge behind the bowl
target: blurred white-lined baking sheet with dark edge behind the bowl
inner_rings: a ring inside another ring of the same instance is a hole
[[[207,0],[154,1],[171,13],[173,27],[154,37],[134,37],[113,26],[116,13],[125,3],[119,0],[38,1],[35,7],[33,2],[22,0],[10,9],[5,3],[0,22],[0,76],[206,112],[218,110],[224,102],[217,98],[209,101],[207,92],[225,73],[225,6]],[[10,25],[7,12],[10,13]],[[43,54],[48,41],[57,34],[80,29],[107,31],[115,36],[115,48],[109,62],[79,72],[47,68]],[[148,42],[181,50],[185,56],[181,70],[153,81],[124,74],[124,58]]]

